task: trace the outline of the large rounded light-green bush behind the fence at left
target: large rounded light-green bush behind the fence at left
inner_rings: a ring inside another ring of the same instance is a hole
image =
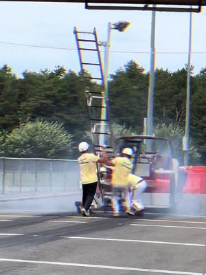
[[[62,124],[39,121],[20,124],[5,137],[3,157],[69,158],[73,141]]]

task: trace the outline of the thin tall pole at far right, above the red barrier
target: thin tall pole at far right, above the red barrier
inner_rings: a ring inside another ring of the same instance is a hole
[[[192,50],[192,12],[190,12],[190,32],[189,32],[189,51],[187,63],[187,98],[186,98],[186,115],[185,115],[185,138],[183,142],[184,165],[189,163],[189,137],[190,137],[190,80],[191,80],[191,50]]]

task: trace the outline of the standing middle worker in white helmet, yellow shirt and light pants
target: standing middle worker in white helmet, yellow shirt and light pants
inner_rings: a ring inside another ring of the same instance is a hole
[[[115,157],[111,161],[106,162],[108,166],[113,166],[112,173],[112,206],[113,206],[113,216],[119,216],[120,204],[119,204],[119,192],[124,195],[124,198],[127,198],[126,193],[128,192],[128,174],[131,173],[133,164],[130,161],[130,158],[133,157],[133,150],[131,148],[123,148],[122,156]],[[126,201],[126,208],[128,203]]]

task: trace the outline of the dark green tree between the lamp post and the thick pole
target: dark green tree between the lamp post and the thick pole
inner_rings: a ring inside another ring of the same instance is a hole
[[[148,98],[148,76],[144,69],[130,61],[111,75],[110,83],[111,119],[117,124],[132,126],[142,131]]]

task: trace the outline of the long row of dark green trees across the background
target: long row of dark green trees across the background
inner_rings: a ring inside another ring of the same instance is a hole
[[[0,130],[11,133],[19,124],[37,119],[62,124],[74,144],[89,130],[84,91],[101,89],[84,77],[86,73],[66,72],[63,67],[12,74],[5,65],[0,69]],[[184,129],[187,68],[176,72],[155,72],[154,122],[174,124]],[[149,76],[134,61],[111,75],[111,120],[142,133],[147,114]],[[206,151],[206,68],[192,76],[190,136],[198,152]]]

